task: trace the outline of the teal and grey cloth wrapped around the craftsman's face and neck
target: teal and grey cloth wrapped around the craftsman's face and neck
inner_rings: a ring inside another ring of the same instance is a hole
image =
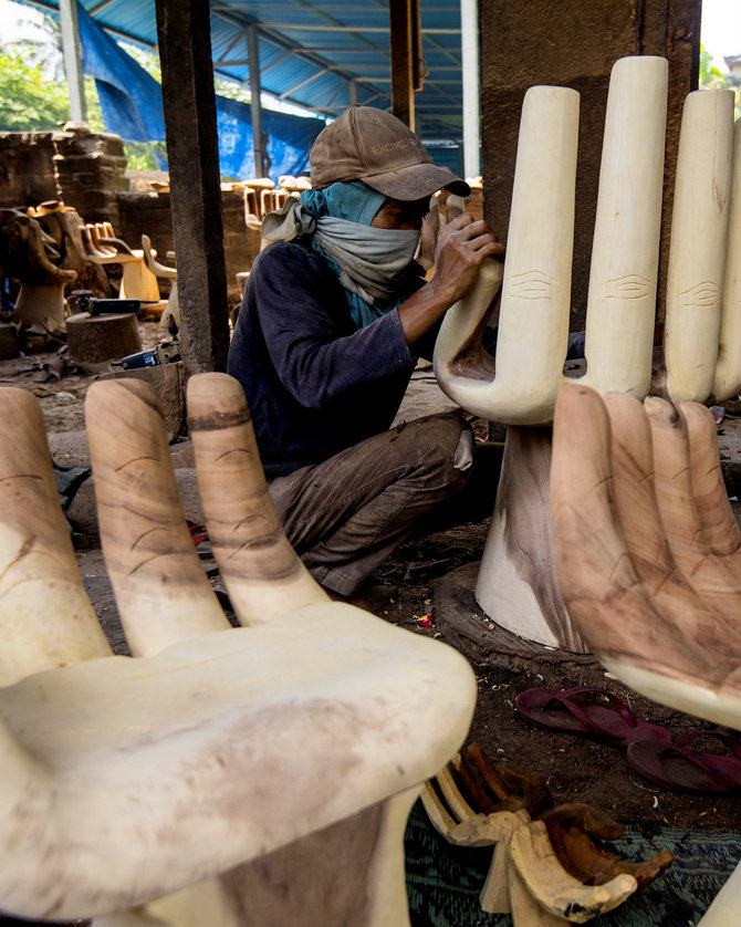
[[[271,241],[312,238],[312,247],[340,277],[358,329],[406,299],[399,283],[419,243],[418,231],[370,227],[387,199],[361,180],[332,184],[304,190],[300,200],[291,197],[262,223],[263,238]]]

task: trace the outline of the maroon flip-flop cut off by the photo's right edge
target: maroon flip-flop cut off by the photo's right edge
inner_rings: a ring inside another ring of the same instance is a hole
[[[700,737],[714,737],[732,753],[690,750]],[[628,763],[645,779],[678,792],[741,792],[741,747],[720,731],[691,731],[674,743],[643,741],[628,747]]]

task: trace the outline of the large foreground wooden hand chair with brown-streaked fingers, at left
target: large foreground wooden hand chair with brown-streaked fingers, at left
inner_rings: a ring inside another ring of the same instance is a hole
[[[229,626],[202,574],[154,393],[96,383],[101,533],[136,655],[117,657],[75,569],[35,400],[2,390],[3,910],[112,915],[219,876],[229,918],[203,923],[408,924],[406,814],[466,735],[472,673],[327,601],[280,530],[234,381],[194,377],[189,406],[215,554],[252,626]]]

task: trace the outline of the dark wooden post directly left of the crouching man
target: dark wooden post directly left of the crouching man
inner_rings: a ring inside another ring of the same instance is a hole
[[[205,0],[156,0],[156,8],[180,351],[189,376],[226,371],[229,350],[210,11]]]

